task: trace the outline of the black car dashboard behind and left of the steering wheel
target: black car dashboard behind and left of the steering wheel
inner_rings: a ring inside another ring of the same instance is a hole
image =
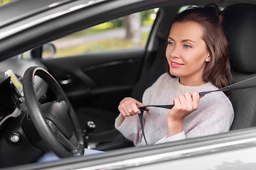
[[[6,75],[6,71],[9,70],[16,76],[17,81],[22,83],[26,69],[32,66],[46,69],[36,60],[23,60],[18,57],[0,62],[0,157],[4,158],[0,160],[0,167],[13,165],[14,162],[15,164],[31,162],[31,156],[27,157],[26,153],[31,152],[33,157],[41,153],[30,142],[41,141],[41,137],[38,136],[28,114],[23,91],[19,91],[14,85],[15,82],[11,81],[11,77]],[[43,103],[42,98],[46,98],[48,84],[37,76],[34,77],[34,83],[38,103]]]

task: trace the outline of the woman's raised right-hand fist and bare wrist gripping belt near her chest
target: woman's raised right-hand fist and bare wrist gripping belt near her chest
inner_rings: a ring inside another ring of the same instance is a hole
[[[174,108],[167,115],[167,137],[183,131],[183,120],[193,111],[196,111],[199,98],[198,92],[186,93],[174,98]]]

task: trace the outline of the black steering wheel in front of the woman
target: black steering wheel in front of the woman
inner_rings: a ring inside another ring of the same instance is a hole
[[[57,100],[39,105],[34,87],[35,76],[48,83]],[[28,113],[50,150],[60,158],[83,155],[85,145],[78,118],[68,97],[53,76],[41,67],[29,67],[22,84]]]

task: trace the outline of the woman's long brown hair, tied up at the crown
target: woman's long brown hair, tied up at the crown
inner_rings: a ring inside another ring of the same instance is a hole
[[[210,62],[206,62],[203,81],[210,82],[219,89],[230,85],[232,74],[228,40],[223,32],[223,18],[218,5],[188,8],[174,18],[173,23],[176,22],[195,22],[203,28],[203,40],[210,52]],[[166,70],[169,72],[169,69]],[[230,92],[226,93],[227,96],[229,94]]]

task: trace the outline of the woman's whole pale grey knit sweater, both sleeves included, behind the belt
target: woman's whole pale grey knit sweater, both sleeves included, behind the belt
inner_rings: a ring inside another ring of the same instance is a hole
[[[145,105],[172,104],[174,98],[180,95],[215,89],[217,88],[209,82],[201,86],[183,86],[178,82],[178,78],[173,79],[165,73],[144,91],[142,103]],[[184,119],[183,132],[166,138],[166,115],[169,109],[153,107],[150,109],[151,115],[144,113],[144,132],[149,145],[228,132],[234,117],[233,106],[223,92],[207,94],[200,99],[198,109]],[[115,128],[127,139],[132,140],[135,146],[146,145],[138,115],[124,118],[122,114],[119,114],[115,121]]]

